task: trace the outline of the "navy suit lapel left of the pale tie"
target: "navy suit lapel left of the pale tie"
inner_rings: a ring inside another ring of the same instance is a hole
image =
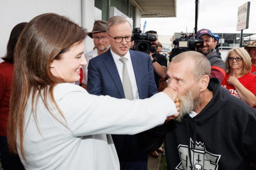
[[[104,58],[105,58],[105,66],[106,66],[108,72],[110,73],[110,76],[111,76],[114,84],[116,85],[119,94],[121,95],[122,98],[125,98],[123,85],[122,85],[119,73],[117,71],[117,66],[116,66],[113,56],[110,52],[110,49],[106,52],[106,55]]]

